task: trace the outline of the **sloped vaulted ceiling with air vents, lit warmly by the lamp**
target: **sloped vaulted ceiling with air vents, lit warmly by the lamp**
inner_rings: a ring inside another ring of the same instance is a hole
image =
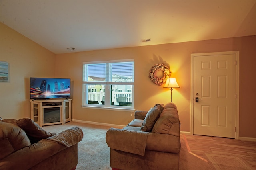
[[[59,54],[256,35],[256,0],[0,0],[0,22]]]

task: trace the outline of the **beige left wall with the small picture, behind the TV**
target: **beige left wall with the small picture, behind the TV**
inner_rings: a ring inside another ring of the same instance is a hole
[[[0,116],[30,117],[30,77],[54,77],[55,54],[0,22],[0,61],[9,63],[9,82],[0,82]]]

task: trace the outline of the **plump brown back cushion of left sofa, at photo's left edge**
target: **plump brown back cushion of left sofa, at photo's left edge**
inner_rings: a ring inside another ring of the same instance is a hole
[[[20,127],[0,121],[0,160],[29,145],[31,143]]]

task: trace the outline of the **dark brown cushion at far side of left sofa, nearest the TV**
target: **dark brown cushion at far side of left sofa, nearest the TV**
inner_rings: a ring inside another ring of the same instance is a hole
[[[30,118],[22,118],[19,120],[4,119],[2,121],[12,123],[14,125],[17,125],[21,129],[23,129],[26,132],[26,134],[32,144],[36,143],[42,139],[56,135],[56,133],[50,133],[50,132],[45,131]]]

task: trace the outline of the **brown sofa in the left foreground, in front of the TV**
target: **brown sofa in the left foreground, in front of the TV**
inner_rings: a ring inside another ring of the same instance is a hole
[[[29,118],[0,121],[1,170],[74,170],[78,163],[79,127],[49,133]]]

